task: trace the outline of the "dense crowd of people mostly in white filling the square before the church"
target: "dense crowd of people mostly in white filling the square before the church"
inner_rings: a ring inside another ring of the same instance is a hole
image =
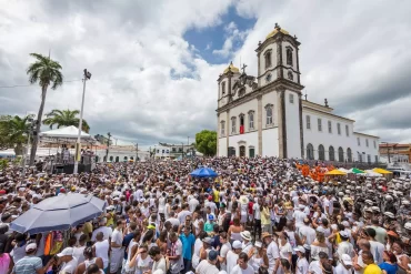
[[[410,179],[318,182],[277,158],[98,164],[91,173],[0,171],[0,274],[411,273]],[[219,176],[196,179],[196,168]],[[69,192],[107,203],[70,231],[10,223]]]

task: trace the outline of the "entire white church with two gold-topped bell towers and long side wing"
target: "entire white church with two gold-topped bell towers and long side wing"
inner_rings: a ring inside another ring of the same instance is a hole
[[[300,81],[300,42],[278,24],[255,50],[258,75],[232,63],[218,78],[219,156],[279,156],[378,162],[379,138],[308,101]]]

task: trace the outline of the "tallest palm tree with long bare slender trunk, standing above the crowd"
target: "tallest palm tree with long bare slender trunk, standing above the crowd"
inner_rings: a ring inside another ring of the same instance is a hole
[[[44,57],[39,53],[30,53],[31,57],[36,59],[33,63],[27,69],[27,74],[29,75],[29,82],[31,84],[39,83],[41,87],[41,103],[39,113],[37,115],[36,132],[33,138],[33,143],[31,145],[30,153],[30,165],[34,163],[37,145],[39,142],[39,133],[41,125],[41,118],[43,115],[44,103],[47,90],[51,87],[52,90],[56,90],[58,87],[63,84],[63,74],[61,73],[61,65],[59,62],[51,60],[50,57]]]

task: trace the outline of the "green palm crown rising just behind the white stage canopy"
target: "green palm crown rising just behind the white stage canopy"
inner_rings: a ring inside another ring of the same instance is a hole
[[[52,129],[54,124],[57,124],[58,129],[69,125],[79,126],[80,119],[77,118],[78,114],[80,114],[78,110],[52,110],[50,113],[46,114],[47,118],[43,120],[43,124],[49,125],[50,129]],[[84,119],[82,120],[81,130],[87,133],[90,131],[90,126]]]

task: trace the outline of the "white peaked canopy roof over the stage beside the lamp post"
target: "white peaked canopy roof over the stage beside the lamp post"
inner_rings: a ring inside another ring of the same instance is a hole
[[[50,130],[41,132],[40,141],[41,142],[76,142],[77,136],[79,134],[79,129],[74,125],[57,129],[57,130]],[[97,141],[88,133],[81,131],[81,142],[83,143],[96,143]]]

